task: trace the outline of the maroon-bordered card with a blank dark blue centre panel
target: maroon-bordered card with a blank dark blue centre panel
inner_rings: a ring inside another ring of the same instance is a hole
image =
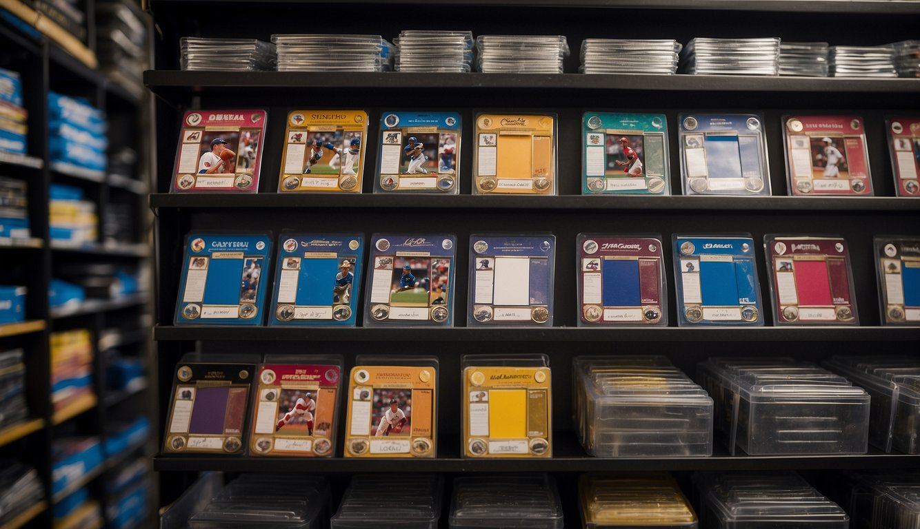
[[[668,324],[661,236],[578,235],[579,326]]]

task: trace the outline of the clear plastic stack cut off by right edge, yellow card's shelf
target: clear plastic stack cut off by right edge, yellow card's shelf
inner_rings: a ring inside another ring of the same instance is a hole
[[[885,452],[920,454],[920,360],[911,356],[837,355],[824,362],[872,398],[868,442]]]

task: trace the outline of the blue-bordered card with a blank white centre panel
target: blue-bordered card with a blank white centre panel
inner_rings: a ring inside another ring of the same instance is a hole
[[[468,325],[553,325],[551,234],[469,236]]]

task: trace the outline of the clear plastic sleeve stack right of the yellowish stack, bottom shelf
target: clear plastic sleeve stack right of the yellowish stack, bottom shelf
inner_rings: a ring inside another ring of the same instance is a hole
[[[850,518],[793,472],[695,474],[703,529],[848,529]]]

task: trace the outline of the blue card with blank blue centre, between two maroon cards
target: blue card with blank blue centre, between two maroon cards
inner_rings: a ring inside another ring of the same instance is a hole
[[[673,242],[680,326],[764,324],[749,234],[674,235]]]

